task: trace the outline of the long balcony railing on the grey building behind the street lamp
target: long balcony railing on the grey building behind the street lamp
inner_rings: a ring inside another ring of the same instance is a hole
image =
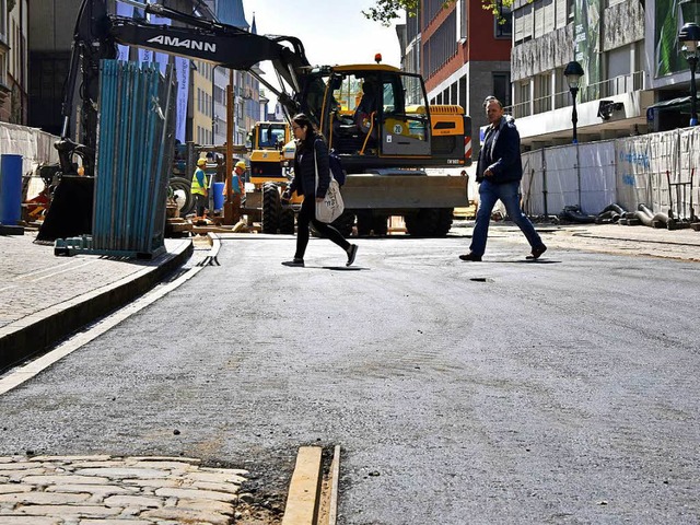
[[[595,84],[586,85],[583,91],[579,93],[579,103],[597,101],[599,98],[607,98],[609,96],[621,95],[625,93],[631,93],[633,91],[640,91],[644,89],[644,71],[635,71],[631,74],[621,74],[612,79],[596,82]],[[551,112],[559,109],[560,107],[567,107],[571,105],[571,93],[569,90],[555,93],[553,95],[540,96],[530,101],[513,104],[505,108],[505,113],[513,115],[515,118],[529,117],[532,115],[538,115],[540,113]]]

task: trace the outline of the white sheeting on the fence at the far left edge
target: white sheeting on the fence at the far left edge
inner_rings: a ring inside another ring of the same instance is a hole
[[[58,151],[54,142],[59,138],[36,128],[0,122],[0,154],[22,155],[24,186],[28,186],[26,198],[36,197],[44,189],[44,182],[36,175],[40,164],[58,163]]]

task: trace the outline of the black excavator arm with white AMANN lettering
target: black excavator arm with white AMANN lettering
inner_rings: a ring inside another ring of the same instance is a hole
[[[256,35],[161,4],[124,1],[142,9],[145,13],[170,19],[179,25],[150,24],[109,14],[106,0],[83,0],[73,33],[71,62],[61,107],[61,140],[56,144],[63,173],[72,173],[72,158],[75,154],[82,156],[86,174],[94,173],[100,60],[115,58],[117,44],[248,71],[277,95],[288,116],[299,112],[299,93],[302,91],[304,78],[311,70],[304,46],[299,38]],[[280,79],[281,89],[270,84],[253,70],[254,66],[266,60],[271,61]],[[82,72],[82,144],[69,139],[79,72]],[[291,96],[284,91],[285,86],[291,90]]]

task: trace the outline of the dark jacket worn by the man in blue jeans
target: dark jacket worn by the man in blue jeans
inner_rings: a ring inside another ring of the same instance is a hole
[[[487,129],[487,132],[490,129]],[[521,159],[521,135],[515,121],[510,116],[501,117],[501,122],[493,137],[483,143],[477,163],[477,183],[485,178],[493,184],[513,183],[523,178],[523,161]],[[490,177],[483,172],[491,168]]]

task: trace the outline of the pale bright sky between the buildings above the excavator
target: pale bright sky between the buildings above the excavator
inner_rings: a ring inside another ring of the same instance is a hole
[[[400,48],[395,24],[385,27],[362,14],[374,3],[373,0],[243,0],[243,8],[249,24],[255,13],[258,35],[287,35],[302,40],[312,66],[373,63],[374,55],[381,52],[383,63],[398,68]],[[401,23],[402,19],[396,22]],[[260,66],[265,79],[277,85],[269,63]]]

